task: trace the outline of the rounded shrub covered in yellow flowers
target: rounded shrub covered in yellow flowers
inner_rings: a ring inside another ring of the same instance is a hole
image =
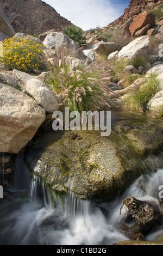
[[[32,39],[32,36],[5,39],[2,44],[1,62],[10,70],[32,72],[45,69],[41,58],[43,46]]]

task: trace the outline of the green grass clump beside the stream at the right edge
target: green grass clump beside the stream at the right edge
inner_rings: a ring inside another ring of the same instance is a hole
[[[132,109],[143,112],[146,105],[152,97],[159,92],[160,84],[156,76],[151,74],[147,83],[141,86],[138,90],[133,90],[130,94],[124,97],[123,102]]]

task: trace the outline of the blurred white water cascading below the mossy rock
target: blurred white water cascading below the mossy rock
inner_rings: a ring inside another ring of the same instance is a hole
[[[70,192],[59,196],[46,187],[38,176],[31,176],[23,162],[16,160],[15,182],[9,196],[1,199],[1,245],[112,245],[129,240],[116,229],[125,214],[122,200],[133,196],[154,200],[163,185],[163,169],[141,176],[113,203],[96,204],[80,200]],[[143,184],[143,186],[142,186]],[[26,188],[26,190],[24,190]],[[146,237],[154,241],[163,234],[160,224]]]

